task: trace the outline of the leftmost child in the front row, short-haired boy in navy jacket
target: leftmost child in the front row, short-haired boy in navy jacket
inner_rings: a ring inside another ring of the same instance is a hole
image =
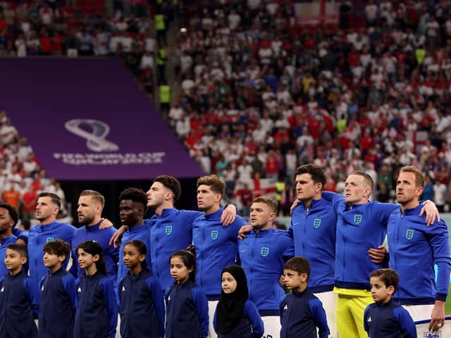
[[[39,312],[37,285],[23,271],[27,246],[9,244],[5,265],[9,273],[0,277],[0,332],[5,338],[35,338]]]

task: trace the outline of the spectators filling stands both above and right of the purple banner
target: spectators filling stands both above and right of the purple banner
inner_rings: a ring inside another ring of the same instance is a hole
[[[449,210],[447,1],[370,1],[365,20],[353,8],[339,25],[316,26],[297,23],[291,1],[179,2],[125,10],[114,1],[109,18],[73,1],[2,1],[0,54],[119,55],[152,93],[154,74],[168,80],[175,25],[181,93],[165,117],[205,172],[227,182],[226,200],[245,207],[254,179],[279,177],[287,211],[295,168],[316,163],[330,191],[365,170],[377,182],[373,199],[394,201],[398,169],[414,164],[427,174],[424,199]]]

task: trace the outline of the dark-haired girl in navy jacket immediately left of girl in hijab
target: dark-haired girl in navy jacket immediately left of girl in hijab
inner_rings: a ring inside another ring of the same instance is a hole
[[[189,251],[175,251],[170,258],[175,280],[166,290],[166,338],[206,338],[209,307],[206,295],[194,282],[196,258]]]

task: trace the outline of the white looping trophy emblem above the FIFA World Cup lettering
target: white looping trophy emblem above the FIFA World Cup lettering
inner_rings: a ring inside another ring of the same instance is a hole
[[[85,130],[82,126],[89,127],[91,131]],[[106,135],[110,132],[110,127],[106,123],[99,120],[92,120],[87,118],[75,118],[69,120],[64,125],[66,130],[73,134],[86,139],[86,146],[91,151],[118,151],[119,146],[111,141],[108,141]]]

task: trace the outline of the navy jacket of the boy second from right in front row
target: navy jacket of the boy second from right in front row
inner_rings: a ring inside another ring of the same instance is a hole
[[[280,299],[280,338],[329,337],[329,327],[323,303],[307,287],[303,292],[293,290]]]

